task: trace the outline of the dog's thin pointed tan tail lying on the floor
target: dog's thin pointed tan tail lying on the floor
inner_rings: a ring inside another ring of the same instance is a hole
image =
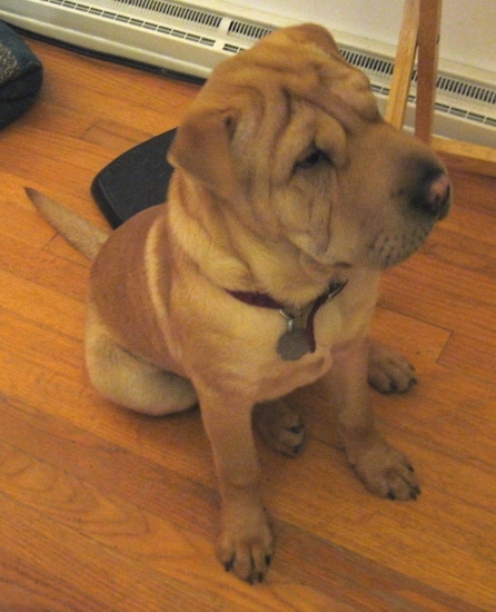
[[[48,198],[36,189],[26,187],[29,199],[47,221],[79,253],[93,261],[109,234],[86,221],[72,210]]]

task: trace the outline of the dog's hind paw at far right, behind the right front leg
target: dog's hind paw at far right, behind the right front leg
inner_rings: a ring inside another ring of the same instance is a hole
[[[380,393],[406,393],[417,384],[414,366],[400,353],[370,343],[368,382]]]

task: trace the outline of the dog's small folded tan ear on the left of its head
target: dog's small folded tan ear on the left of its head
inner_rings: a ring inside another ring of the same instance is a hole
[[[191,108],[168,151],[169,162],[218,196],[231,199],[239,189],[230,152],[236,122],[236,109]]]

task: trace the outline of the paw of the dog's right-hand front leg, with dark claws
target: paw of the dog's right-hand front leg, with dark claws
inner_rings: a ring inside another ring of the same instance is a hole
[[[360,453],[353,464],[365,487],[379,497],[416,500],[420,487],[408,460],[384,441]]]

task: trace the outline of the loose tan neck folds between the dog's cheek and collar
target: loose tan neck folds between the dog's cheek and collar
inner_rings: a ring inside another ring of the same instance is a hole
[[[175,172],[168,214],[181,248],[214,285],[230,292],[270,295],[288,308],[304,308],[326,292],[336,275],[331,266],[310,261],[289,240],[268,240],[248,228],[230,204]],[[194,196],[195,193],[195,196]],[[201,206],[198,205],[201,194]],[[194,196],[194,197],[192,197]],[[181,203],[180,205],[178,203]],[[194,209],[188,207],[195,203]]]

